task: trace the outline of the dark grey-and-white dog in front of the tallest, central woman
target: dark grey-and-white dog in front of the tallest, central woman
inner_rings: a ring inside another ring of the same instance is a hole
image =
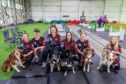
[[[53,72],[55,66],[60,71],[60,52],[54,49],[51,56],[50,72]]]

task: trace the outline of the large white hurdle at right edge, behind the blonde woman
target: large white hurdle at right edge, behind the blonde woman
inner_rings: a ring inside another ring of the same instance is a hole
[[[112,30],[113,29],[111,27],[110,32],[109,32],[109,36],[117,36],[117,37],[119,37],[120,41],[123,41],[124,35],[125,35],[125,30],[122,27],[120,27],[120,30],[118,32],[113,32]]]

